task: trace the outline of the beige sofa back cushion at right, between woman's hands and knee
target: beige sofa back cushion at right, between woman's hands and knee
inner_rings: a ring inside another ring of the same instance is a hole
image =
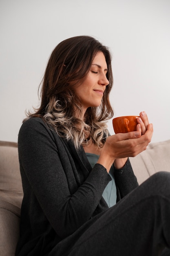
[[[170,140],[150,143],[145,151],[130,157],[139,184],[158,171],[170,171]]]

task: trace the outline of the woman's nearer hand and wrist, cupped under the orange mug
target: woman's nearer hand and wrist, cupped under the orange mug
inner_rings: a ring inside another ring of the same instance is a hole
[[[140,124],[137,125],[137,131],[127,133],[117,133],[109,136],[101,150],[98,164],[102,164],[107,172],[117,158],[135,157],[146,147],[151,141],[153,134],[153,125],[148,124],[144,135],[141,135]]]

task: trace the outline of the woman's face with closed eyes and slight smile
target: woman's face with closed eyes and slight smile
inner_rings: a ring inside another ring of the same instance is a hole
[[[86,79],[74,89],[75,94],[82,103],[84,113],[88,107],[100,106],[104,90],[109,84],[106,73],[107,64],[105,56],[102,52],[98,52],[93,59]]]

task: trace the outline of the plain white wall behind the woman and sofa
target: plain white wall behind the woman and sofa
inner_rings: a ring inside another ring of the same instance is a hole
[[[170,139],[169,0],[1,0],[0,35],[0,140],[17,141],[51,51],[78,35],[111,49],[115,117],[145,110],[152,142]]]

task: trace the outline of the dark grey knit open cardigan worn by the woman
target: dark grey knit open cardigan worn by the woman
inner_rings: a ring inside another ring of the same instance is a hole
[[[102,193],[110,175],[40,118],[22,124],[18,152],[24,198],[16,255],[45,255],[56,245],[62,255],[82,225],[108,210]],[[115,183],[117,201],[138,186],[129,160],[115,169]]]

